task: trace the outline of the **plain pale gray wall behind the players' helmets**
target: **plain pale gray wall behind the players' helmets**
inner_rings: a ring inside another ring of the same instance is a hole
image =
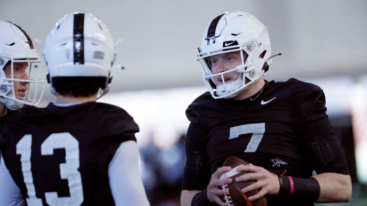
[[[367,67],[365,0],[0,0],[0,19],[44,41],[70,12],[90,12],[110,28],[118,45],[111,92],[203,85],[195,60],[205,26],[230,10],[255,15],[268,26],[274,58],[266,78],[286,80],[358,75]],[[41,55],[42,45],[36,43]],[[45,68],[34,77],[44,78]],[[46,89],[46,98],[52,99]]]

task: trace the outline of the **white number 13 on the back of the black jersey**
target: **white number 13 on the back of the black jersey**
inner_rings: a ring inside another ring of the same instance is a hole
[[[24,135],[16,145],[17,154],[20,155],[20,162],[24,183],[27,187],[29,198],[28,205],[42,205],[41,198],[36,197],[36,190],[33,184],[31,171],[31,146],[32,135]],[[77,170],[79,162],[79,142],[68,132],[54,133],[48,136],[41,144],[41,155],[53,155],[54,149],[65,149],[65,163],[60,164],[61,179],[67,179],[70,197],[59,197],[57,192],[46,192],[45,198],[49,205],[80,205],[83,203],[82,177]],[[44,165],[47,167],[47,165]]]

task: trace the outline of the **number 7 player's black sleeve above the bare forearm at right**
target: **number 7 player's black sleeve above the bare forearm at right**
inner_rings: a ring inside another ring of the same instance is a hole
[[[325,94],[314,84],[302,87],[293,100],[297,136],[307,163],[317,173],[349,174],[325,107]]]

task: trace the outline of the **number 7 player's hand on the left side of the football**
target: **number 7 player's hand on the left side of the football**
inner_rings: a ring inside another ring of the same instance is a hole
[[[212,174],[211,180],[210,180],[209,185],[207,186],[207,189],[206,189],[206,195],[207,195],[208,199],[211,202],[216,202],[217,204],[222,205],[222,206],[227,205],[223,201],[223,199],[221,199],[220,196],[229,194],[229,191],[228,191],[228,189],[222,190],[221,186],[226,185],[226,184],[230,184],[232,182],[232,179],[230,179],[230,178],[219,179],[219,178],[223,173],[228,172],[230,170],[231,170],[231,167],[228,167],[228,166],[219,167],[217,169],[217,171],[215,171]]]

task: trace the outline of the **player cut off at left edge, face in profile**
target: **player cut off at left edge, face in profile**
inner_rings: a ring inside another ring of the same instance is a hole
[[[0,20],[0,135],[15,110],[41,101],[44,80],[30,79],[31,68],[39,62],[29,35],[15,23]]]

